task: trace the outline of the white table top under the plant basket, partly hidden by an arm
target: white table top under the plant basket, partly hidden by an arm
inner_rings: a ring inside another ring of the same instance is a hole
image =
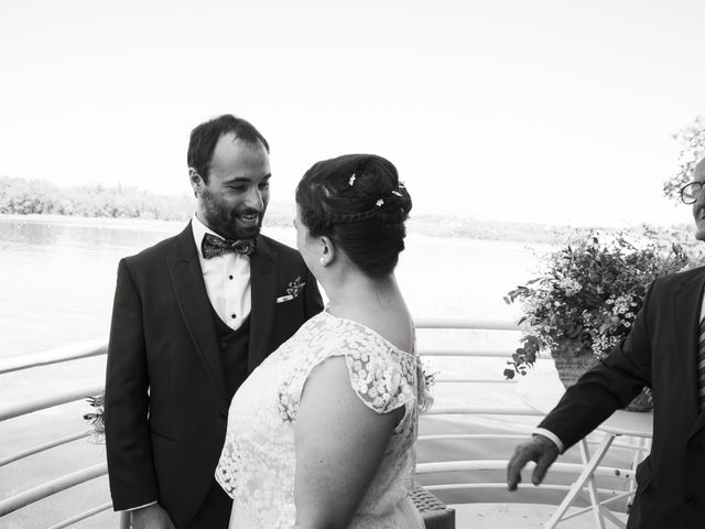
[[[564,392],[565,388],[556,371],[531,371],[520,377],[517,385],[519,398],[540,413],[549,413]],[[653,412],[616,411],[597,429],[617,435],[651,438]]]

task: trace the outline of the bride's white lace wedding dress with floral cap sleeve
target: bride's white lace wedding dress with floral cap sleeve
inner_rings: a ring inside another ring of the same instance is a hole
[[[350,528],[422,529],[413,488],[416,421],[431,402],[417,356],[375,331],[328,312],[308,320],[245,381],[230,404],[216,479],[234,498],[230,528],[290,529],[295,521],[294,422],[306,378],[344,356],[350,385],[370,409],[404,408],[381,465]]]

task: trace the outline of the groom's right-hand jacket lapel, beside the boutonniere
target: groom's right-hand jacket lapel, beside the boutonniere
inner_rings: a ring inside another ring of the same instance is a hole
[[[250,256],[252,309],[248,355],[249,373],[252,373],[269,353],[268,347],[274,324],[278,261],[278,255],[269,248],[261,236],[258,237],[257,251]]]

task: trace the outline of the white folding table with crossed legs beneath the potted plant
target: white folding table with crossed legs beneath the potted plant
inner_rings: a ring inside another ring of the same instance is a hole
[[[564,392],[565,388],[561,384],[556,371],[534,371],[522,377],[517,385],[517,393],[521,400],[529,407],[544,414],[549,413],[555,404],[558,403]],[[599,501],[594,473],[618,435],[631,435],[642,439],[646,442],[651,439],[653,432],[653,412],[616,411],[597,427],[597,430],[604,432],[605,435],[592,455],[585,439],[581,440],[579,449],[583,458],[583,472],[575,483],[573,483],[568,494],[563,498],[556,511],[545,523],[545,528],[553,529],[561,520],[567,519],[567,517],[564,516],[566,510],[571,504],[573,504],[575,497],[582,494],[584,487],[587,487],[589,494],[590,507],[587,510],[593,511],[595,527],[605,529],[605,519],[608,519],[617,527],[626,527],[619,518]],[[633,465],[636,466],[637,463],[638,461],[634,457]],[[626,493],[626,495],[631,494],[633,494],[633,492]],[[610,498],[610,500],[614,499],[616,498]]]

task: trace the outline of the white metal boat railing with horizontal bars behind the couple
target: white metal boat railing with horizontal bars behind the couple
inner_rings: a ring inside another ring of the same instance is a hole
[[[510,322],[499,321],[479,321],[479,320],[451,320],[451,319],[421,319],[415,321],[417,330],[468,330],[468,331],[491,331],[491,332],[517,332],[518,327]],[[15,355],[13,357],[0,358],[0,376],[19,371],[33,369],[40,366],[47,366],[57,363],[74,361],[83,358],[101,356],[107,353],[106,341],[94,341],[82,344],[72,345],[68,347],[61,347],[42,353]],[[473,349],[473,348],[438,348],[438,347],[420,347],[419,354],[423,357],[503,357],[509,358],[511,353],[507,349]],[[452,377],[437,377],[435,380],[438,385],[481,385],[481,384],[502,384],[511,385],[514,380],[503,380],[498,378],[452,378]],[[61,395],[53,395],[51,397],[36,398],[30,401],[11,403],[0,406],[0,422],[4,422],[18,417],[34,413],[40,410],[45,410],[53,407],[58,407],[69,402],[85,400],[90,396],[99,395],[102,391],[102,385],[86,386],[72,389],[70,391],[63,392]],[[499,417],[499,415],[528,415],[540,417],[540,414],[527,406],[434,406],[426,414],[422,415],[423,421],[432,420],[437,415],[458,415],[458,417]],[[422,428],[423,430],[423,428]],[[512,425],[511,431],[508,432],[491,432],[491,433],[458,433],[440,432],[433,434],[422,434],[419,436],[419,445],[423,443],[437,443],[444,441],[467,441],[467,445],[471,443],[488,441],[502,441],[502,440],[516,440],[519,442],[521,439],[525,439],[531,432],[530,425],[525,423],[518,423]],[[42,452],[48,451],[56,446],[61,446],[67,443],[73,443],[78,440],[89,436],[90,429],[77,431],[61,439],[54,439],[43,444],[34,446],[28,446],[21,452],[4,456],[0,460],[0,468],[18,463],[21,460],[31,457]],[[615,446],[632,450],[639,452],[642,450],[636,443],[622,442],[615,443]],[[442,454],[441,454],[442,455]],[[509,454],[508,454],[509,455]],[[438,457],[436,461],[423,461],[417,463],[416,473],[419,481],[434,493],[444,492],[469,492],[476,489],[499,489],[505,488],[503,472],[507,466],[507,460],[458,460],[458,461],[444,461]],[[468,472],[488,471],[488,474],[499,476],[490,482],[447,482],[438,483],[434,476],[448,476],[454,474],[464,475]],[[552,466],[553,474],[570,474],[577,476],[582,471],[579,463],[556,463]],[[79,468],[69,474],[63,475],[56,479],[52,479],[34,487],[13,494],[7,498],[0,498],[0,517],[9,515],[18,509],[30,506],[33,503],[47,498],[62,490],[69,489],[79,484],[88,481],[105,476],[107,474],[107,465],[105,462]],[[626,482],[633,479],[631,468],[612,468],[600,467],[598,468],[597,476],[621,476]],[[429,478],[429,479],[426,479]],[[628,487],[625,487],[628,489]],[[566,484],[544,484],[542,485],[544,490],[567,490]],[[603,490],[606,494],[611,494],[612,499],[622,497],[626,493],[623,490]],[[466,501],[457,503],[471,503],[471,498]],[[111,508],[111,503],[106,501],[97,505],[88,510],[78,512],[68,519],[61,522],[56,522],[51,526],[50,529],[61,529],[69,527],[78,521],[85,520],[91,516],[102,512]],[[1,520],[0,520],[1,521]],[[127,528],[129,526],[128,517],[122,516],[120,518],[120,527]]]

